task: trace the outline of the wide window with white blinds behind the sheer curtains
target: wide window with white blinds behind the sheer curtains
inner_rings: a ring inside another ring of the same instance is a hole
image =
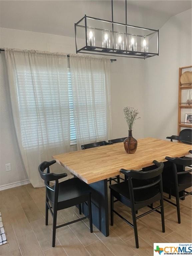
[[[29,60],[22,59],[15,69],[22,146],[79,147],[81,142],[105,140],[108,100],[100,62],[81,70],[75,65],[70,69],[69,61],[57,55]]]

